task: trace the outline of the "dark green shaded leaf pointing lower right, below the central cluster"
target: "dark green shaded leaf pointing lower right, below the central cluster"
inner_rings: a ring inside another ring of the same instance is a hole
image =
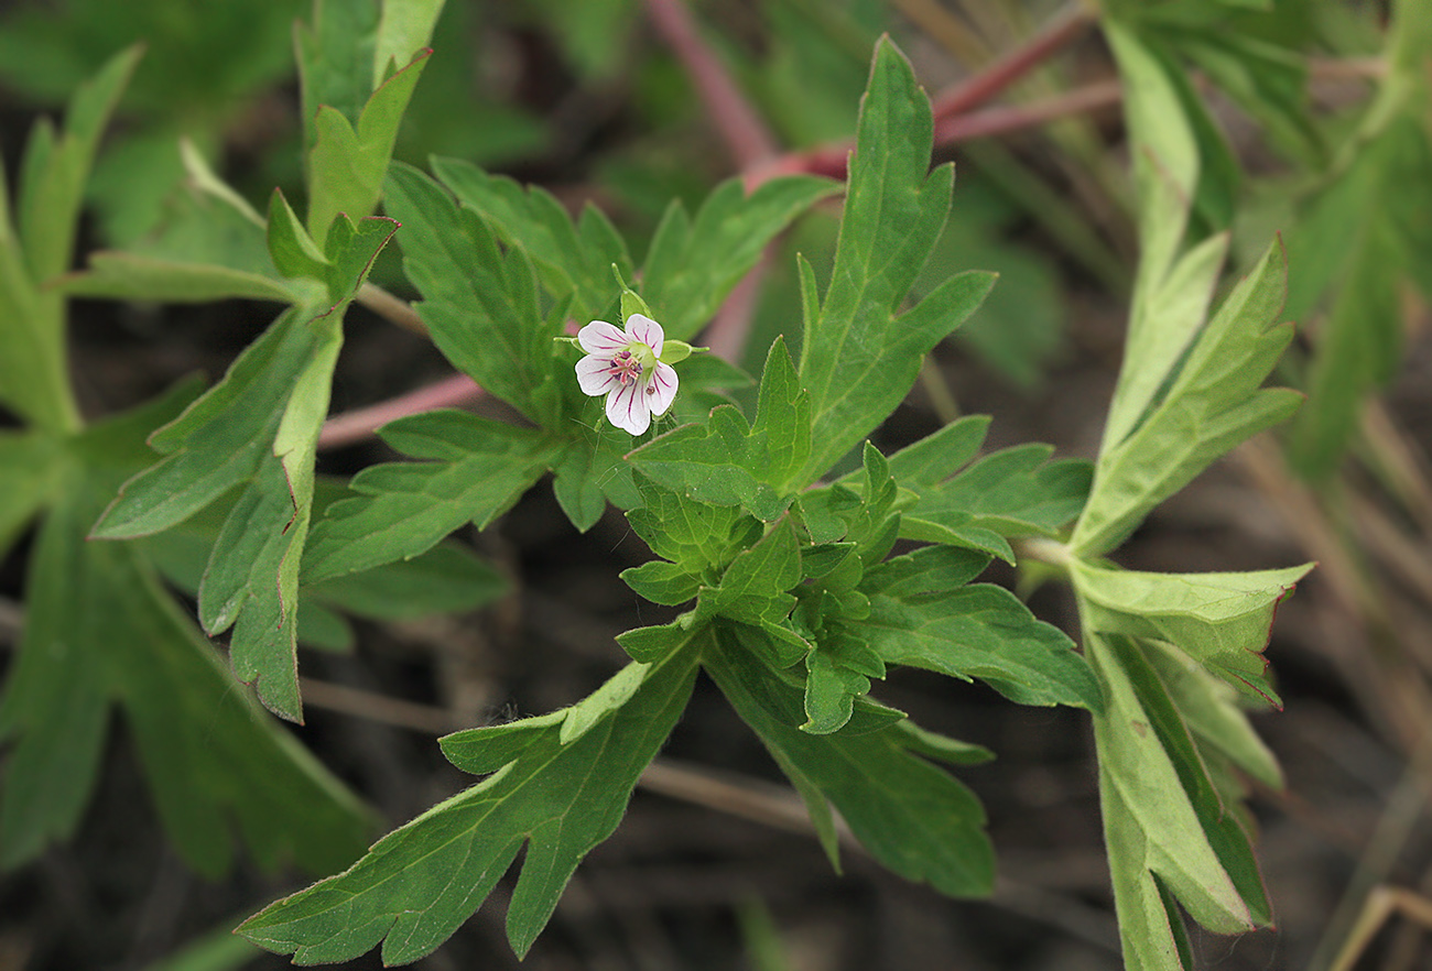
[[[852,720],[835,735],[802,732],[800,689],[743,654],[722,634],[705,667],[800,792],[832,864],[839,865],[833,806],[865,848],[905,879],[954,897],[991,891],[994,849],[978,799],[916,758],[968,755],[968,749],[934,743],[906,722],[858,732]]]

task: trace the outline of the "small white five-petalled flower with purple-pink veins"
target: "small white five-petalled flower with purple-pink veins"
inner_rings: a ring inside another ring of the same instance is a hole
[[[664,338],[662,325],[644,314],[629,317],[626,331],[591,321],[577,332],[587,352],[577,361],[577,384],[591,397],[607,395],[607,420],[633,435],[652,425],[652,415],[666,414],[676,398],[676,369],[660,359]]]

